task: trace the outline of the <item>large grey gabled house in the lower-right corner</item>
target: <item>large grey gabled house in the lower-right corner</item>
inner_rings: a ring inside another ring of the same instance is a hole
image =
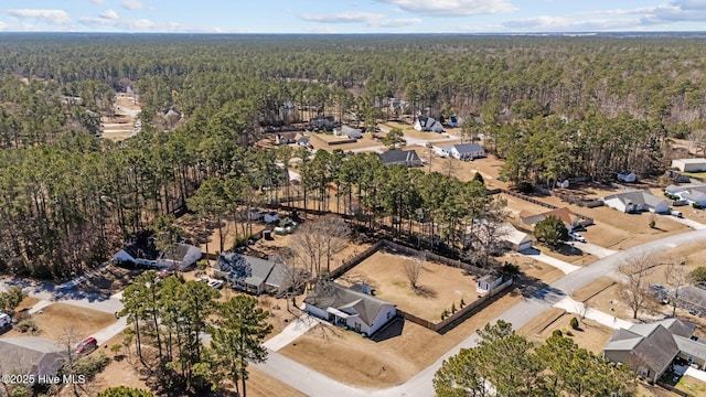
[[[657,380],[676,357],[704,367],[706,345],[692,340],[693,333],[694,325],[678,319],[634,324],[613,333],[603,347],[603,357]]]

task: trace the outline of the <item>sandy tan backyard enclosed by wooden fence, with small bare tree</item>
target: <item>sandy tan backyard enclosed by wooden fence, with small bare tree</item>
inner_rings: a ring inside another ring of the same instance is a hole
[[[405,264],[411,257],[379,250],[343,275],[344,280],[367,281],[375,296],[397,304],[397,308],[429,321],[440,321],[445,309],[461,299],[468,304],[478,298],[477,278],[462,269],[424,261],[416,293],[405,276]]]

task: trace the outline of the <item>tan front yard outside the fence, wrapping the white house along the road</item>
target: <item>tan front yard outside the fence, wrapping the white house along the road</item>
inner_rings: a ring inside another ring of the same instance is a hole
[[[373,342],[353,331],[320,325],[279,353],[349,385],[398,385],[520,300],[518,292],[507,293],[445,335],[396,320],[389,329],[392,337]]]

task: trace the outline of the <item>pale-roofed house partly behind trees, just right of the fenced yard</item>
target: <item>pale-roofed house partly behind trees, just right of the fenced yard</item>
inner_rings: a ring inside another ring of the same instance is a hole
[[[491,238],[494,238],[493,244],[499,250],[522,251],[532,248],[534,243],[531,235],[517,230],[509,222],[489,223],[485,219],[474,219],[473,225],[466,228],[463,240],[473,246],[479,243],[486,244]]]

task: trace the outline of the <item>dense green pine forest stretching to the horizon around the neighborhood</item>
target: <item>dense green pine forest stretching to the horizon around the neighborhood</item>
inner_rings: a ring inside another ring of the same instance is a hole
[[[99,262],[205,181],[226,186],[221,207],[280,186],[275,161],[291,153],[254,144],[261,126],[287,121],[288,101],[308,116],[373,125],[399,116],[384,106],[393,97],[408,101],[407,114],[481,115],[479,132],[514,183],[655,173],[667,138],[702,130],[706,111],[697,39],[3,34],[0,51],[0,271],[36,277]],[[96,139],[100,116],[126,89],[139,95],[142,131],[119,143]],[[159,117],[171,109],[183,115],[176,126]],[[403,218],[411,228],[438,216],[448,240],[472,213],[463,202],[447,214],[431,194],[403,200],[395,192],[409,191],[391,182],[441,176],[365,179],[356,168],[341,180],[344,163],[314,158],[304,193],[323,200],[322,182],[342,184],[367,212],[397,217],[398,230]]]

